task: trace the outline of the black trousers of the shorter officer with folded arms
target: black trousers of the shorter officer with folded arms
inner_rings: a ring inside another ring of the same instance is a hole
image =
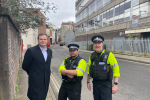
[[[58,100],[81,100],[81,81],[76,83],[66,82],[65,80],[62,82]]]

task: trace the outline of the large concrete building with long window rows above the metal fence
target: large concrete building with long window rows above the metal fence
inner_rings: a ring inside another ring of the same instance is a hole
[[[75,41],[90,40],[96,34],[106,39],[131,33],[133,37],[145,38],[150,32],[150,25],[146,24],[149,15],[149,0],[77,0]],[[135,31],[139,28],[147,31]]]

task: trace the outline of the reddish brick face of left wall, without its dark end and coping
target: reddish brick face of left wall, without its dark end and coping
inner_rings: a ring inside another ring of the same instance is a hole
[[[16,81],[19,70],[19,37],[16,34],[12,23],[7,21],[7,34],[8,34],[8,67],[9,67],[9,87],[10,96],[13,100]]]

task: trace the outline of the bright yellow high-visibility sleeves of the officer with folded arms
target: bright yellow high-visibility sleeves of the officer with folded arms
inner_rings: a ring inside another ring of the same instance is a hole
[[[68,58],[68,57],[67,57]],[[66,59],[67,59],[66,58]],[[71,62],[71,60],[70,60]],[[78,66],[76,67],[76,71],[77,71],[77,77],[78,76],[83,76],[84,75],[84,72],[86,70],[86,61],[84,59],[81,59],[78,63]],[[65,60],[62,62],[62,64],[60,65],[59,67],[59,73],[61,74],[61,70],[66,70],[65,68]]]

